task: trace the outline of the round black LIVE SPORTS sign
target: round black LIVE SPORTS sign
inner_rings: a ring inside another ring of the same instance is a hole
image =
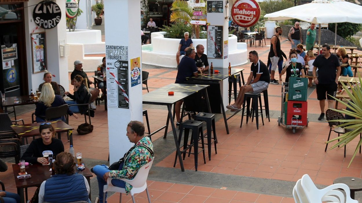
[[[62,18],[62,11],[58,4],[53,1],[41,1],[35,5],[33,10],[33,19],[35,24],[44,29],[51,29],[58,25]]]

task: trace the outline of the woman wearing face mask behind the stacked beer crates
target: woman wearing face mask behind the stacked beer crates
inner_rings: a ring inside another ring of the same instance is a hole
[[[289,59],[290,59],[290,64],[284,66],[283,70],[282,70],[282,75],[284,73],[287,73],[286,77],[285,77],[285,82],[289,82],[289,77],[300,77],[300,73],[302,73],[302,78],[306,77],[304,74],[304,70],[303,70],[303,66],[301,63],[296,62],[297,59],[297,54],[295,52],[295,50],[291,50],[289,52]]]

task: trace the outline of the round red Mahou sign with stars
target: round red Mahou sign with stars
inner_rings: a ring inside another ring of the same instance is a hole
[[[231,17],[240,27],[250,27],[258,22],[260,6],[255,0],[236,0],[231,8]]]

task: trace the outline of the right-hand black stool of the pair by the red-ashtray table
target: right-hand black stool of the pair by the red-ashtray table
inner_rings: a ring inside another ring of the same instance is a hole
[[[215,115],[212,113],[204,113],[200,112],[195,115],[195,121],[206,121],[206,135],[203,136],[207,138],[207,152],[209,155],[209,160],[211,160],[211,144],[214,143],[215,146],[215,154],[218,154],[216,151],[216,143],[218,143],[218,138],[216,138],[216,130],[215,130]],[[211,130],[214,133],[214,137],[211,138]],[[211,139],[214,141],[211,142]]]

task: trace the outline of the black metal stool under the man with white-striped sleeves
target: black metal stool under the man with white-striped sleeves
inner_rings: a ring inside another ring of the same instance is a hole
[[[244,111],[245,111],[245,102],[247,103],[247,112],[246,112],[246,116],[247,116],[247,123],[249,120],[249,115],[250,115],[250,100],[252,99],[251,103],[252,103],[252,121],[254,120],[254,113],[255,113],[255,120],[256,120],[256,129],[259,129],[259,114],[261,115],[261,121],[264,125],[264,119],[263,119],[263,107],[261,104],[261,96],[260,93],[256,93],[256,92],[246,92],[244,95],[244,102],[243,102],[243,112],[241,113],[241,123],[240,123],[240,128],[243,125],[243,118],[244,118]],[[260,104],[260,112],[258,109],[258,100],[259,100],[259,104]]]

